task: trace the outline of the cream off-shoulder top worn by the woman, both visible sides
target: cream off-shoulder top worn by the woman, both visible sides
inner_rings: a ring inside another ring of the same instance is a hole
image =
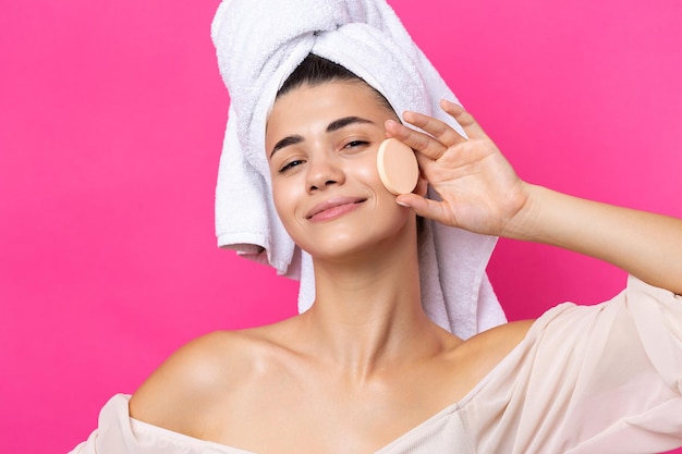
[[[113,396],[72,454],[268,454],[129,416]],[[375,454],[635,454],[682,446],[682,297],[630,277],[596,306],[561,304],[462,401]]]

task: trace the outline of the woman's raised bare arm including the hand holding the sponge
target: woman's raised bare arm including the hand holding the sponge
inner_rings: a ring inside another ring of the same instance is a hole
[[[523,182],[474,118],[441,107],[468,139],[427,115],[387,133],[417,151],[423,176],[442,200],[417,194],[397,201],[419,214],[473,232],[550,244],[613,263],[649,284],[682,294],[682,220],[585,200]]]

